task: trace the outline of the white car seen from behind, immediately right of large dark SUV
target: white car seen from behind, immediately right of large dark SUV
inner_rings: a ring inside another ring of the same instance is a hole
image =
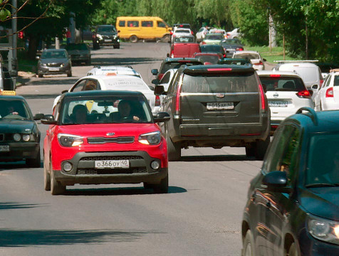
[[[293,72],[276,70],[257,71],[261,85],[266,91],[271,110],[271,131],[301,107],[314,108],[312,91],[307,90],[303,79]]]

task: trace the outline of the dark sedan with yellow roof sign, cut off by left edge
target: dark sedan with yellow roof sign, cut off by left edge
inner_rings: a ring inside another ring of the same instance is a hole
[[[3,94],[6,91],[3,91]],[[22,161],[40,167],[40,131],[24,97],[0,95],[0,161]]]

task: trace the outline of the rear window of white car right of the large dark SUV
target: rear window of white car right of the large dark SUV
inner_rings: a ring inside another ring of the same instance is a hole
[[[266,86],[266,91],[290,91],[301,92],[306,90],[303,80],[295,77],[266,77],[259,76],[260,81]]]

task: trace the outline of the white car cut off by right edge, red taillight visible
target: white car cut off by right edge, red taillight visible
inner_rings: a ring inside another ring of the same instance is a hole
[[[313,85],[312,89],[315,89]],[[327,75],[314,98],[315,110],[339,110],[339,69]]]

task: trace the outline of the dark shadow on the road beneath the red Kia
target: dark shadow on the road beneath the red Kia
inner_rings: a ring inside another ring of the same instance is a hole
[[[169,186],[168,193],[185,193],[185,188]],[[71,188],[66,190],[64,196],[131,196],[131,195],[150,195],[156,194],[152,189],[143,187],[126,187],[126,188]]]

